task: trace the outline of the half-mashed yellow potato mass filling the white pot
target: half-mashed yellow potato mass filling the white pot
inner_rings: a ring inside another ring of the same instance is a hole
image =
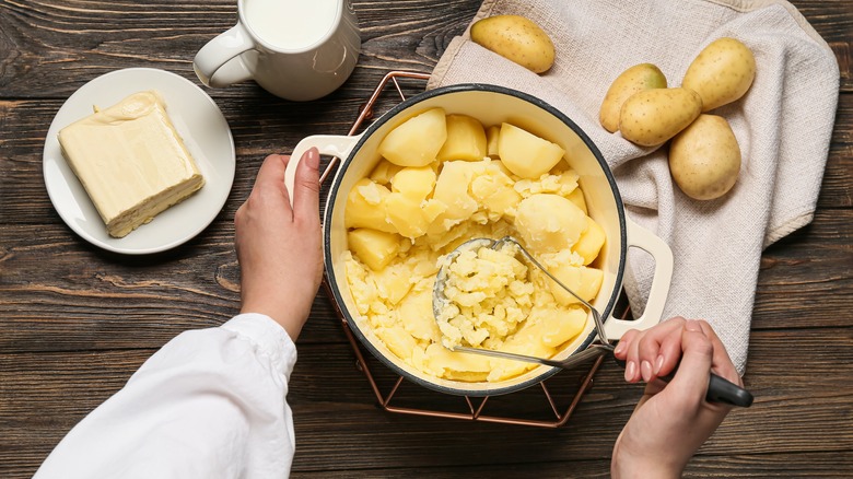
[[[445,128],[477,126],[448,121]],[[397,129],[406,133],[406,122]],[[459,141],[465,135],[479,138],[468,130],[445,137]],[[419,138],[410,148],[428,140]],[[396,135],[394,141],[386,148],[396,149],[393,157],[408,153],[405,136]],[[343,260],[360,325],[370,327],[394,354],[435,377],[494,382],[535,364],[448,348],[463,344],[550,358],[584,329],[587,312],[517,256],[514,245],[505,245],[463,253],[449,265],[445,295],[451,306],[436,322],[432,290],[441,261],[468,240],[511,235],[592,301],[601,284],[595,258],[605,235],[587,215],[577,174],[568,163],[536,179],[522,178],[502,164],[500,151],[498,159],[484,156],[483,147],[475,143],[468,153],[458,152],[458,145],[454,151],[482,160],[435,160],[426,166],[381,160],[349,191],[349,250]],[[439,151],[435,144],[423,148]]]

